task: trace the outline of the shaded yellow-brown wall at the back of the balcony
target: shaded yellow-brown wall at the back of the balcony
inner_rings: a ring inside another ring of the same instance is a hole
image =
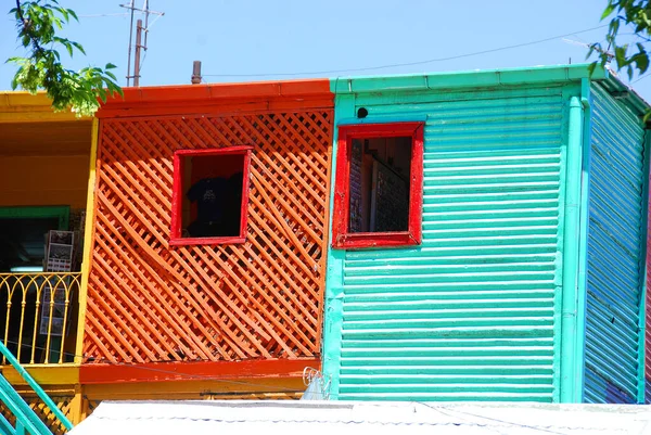
[[[3,155],[0,158],[0,206],[69,205],[85,208],[88,165],[88,155]]]

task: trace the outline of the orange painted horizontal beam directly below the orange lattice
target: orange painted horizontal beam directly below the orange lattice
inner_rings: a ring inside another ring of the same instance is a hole
[[[320,369],[319,359],[200,361],[82,364],[81,384],[118,382],[209,381],[220,379],[299,378],[306,367]]]

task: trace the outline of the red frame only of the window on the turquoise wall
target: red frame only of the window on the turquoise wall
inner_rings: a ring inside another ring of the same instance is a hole
[[[398,247],[422,241],[424,123],[361,124],[339,128],[332,246],[336,248]],[[407,231],[348,232],[349,179],[353,139],[411,138],[409,223]]]

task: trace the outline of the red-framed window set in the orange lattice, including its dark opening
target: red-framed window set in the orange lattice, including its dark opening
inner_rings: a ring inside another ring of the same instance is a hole
[[[171,245],[246,241],[253,146],[174,153]]]

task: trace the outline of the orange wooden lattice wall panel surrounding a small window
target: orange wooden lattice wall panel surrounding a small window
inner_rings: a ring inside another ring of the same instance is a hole
[[[87,361],[319,351],[330,110],[102,119]],[[247,241],[169,246],[173,153],[253,145]]]

